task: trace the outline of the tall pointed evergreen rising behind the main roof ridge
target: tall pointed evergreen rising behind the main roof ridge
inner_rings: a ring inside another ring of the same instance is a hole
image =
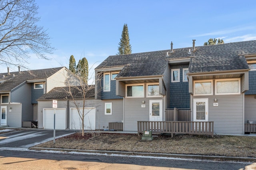
[[[120,42],[118,43],[118,45],[119,47],[118,47],[117,55],[132,53],[132,46],[130,45],[130,38],[129,38],[127,24],[124,24],[122,37],[120,38]]]

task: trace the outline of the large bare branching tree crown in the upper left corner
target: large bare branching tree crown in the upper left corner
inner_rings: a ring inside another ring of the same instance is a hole
[[[31,53],[48,59],[45,53],[54,50],[50,37],[36,15],[35,0],[0,0],[0,65],[28,63]]]

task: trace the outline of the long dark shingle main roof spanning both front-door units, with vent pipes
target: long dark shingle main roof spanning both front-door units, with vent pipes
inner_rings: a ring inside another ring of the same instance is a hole
[[[105,59],[96,69],[124,66],[117,77],[134,77],[162,75],[168,63],[167,59],[191,57],[189,73],[249,69],[245,54],[256,53],[256,40],[246,42],[224,43],[169,50],[112,55]],[[188,54],[189,49],[191,54]],[[166,57],[166,52],[169,56]]]

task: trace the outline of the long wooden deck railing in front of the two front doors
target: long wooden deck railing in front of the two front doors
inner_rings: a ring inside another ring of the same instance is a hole
[[[145,130],[152,134],[210,134],[214,136],[213,122],[188,122],[188,121],[138,121],[138,135]]]

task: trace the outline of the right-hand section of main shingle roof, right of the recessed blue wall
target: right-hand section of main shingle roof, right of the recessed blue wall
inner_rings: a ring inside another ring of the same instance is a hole
[[[189,73],[249,69],[245,54],[256,53],[256,41],[196,47]]]

